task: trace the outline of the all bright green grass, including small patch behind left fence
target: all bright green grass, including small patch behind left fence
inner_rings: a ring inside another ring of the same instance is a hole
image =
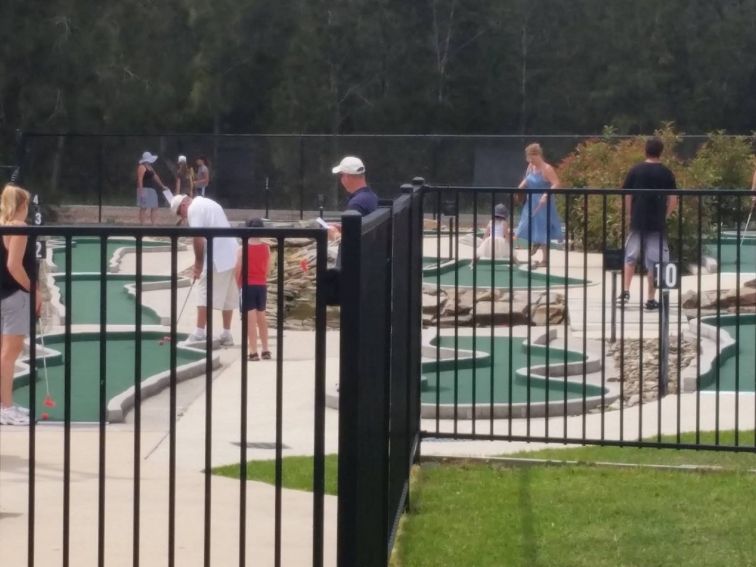
[[[734,435],[720,432],[719,440],[733,444]],[[753,444],[754,432],[741,432],[739,442]],[[726,470],[426,463],[415,470],[392,566],[756,567],[756,474],[746,472],[756,469],[756,454],[578,447],[512,456]],[[289,457],[282,467],[285,488],[311,490],[312,457]],[[214,472],[239,478],[238,465]],[[273,483],[275,462],[252,461],[247,472]],[[326,456],[325,475],[335,494],[336,455]]]

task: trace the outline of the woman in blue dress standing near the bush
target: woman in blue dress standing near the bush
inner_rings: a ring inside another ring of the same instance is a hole
[[[554,168],[543,159],[543,150],[539,144],[530,144],[525,148],[525,159],[528,162],[528,169],[525,171],[525,179],[519,185],[520,189],[559,188],[559,177]],[[517,238],[531,243],[531,254],[535,254],[539,248],[543,250],[541,261],[535,262],[533,267],[540,268],[547,265],[549,242],[562,240],[562,221],[557,213],[553,196],[549,199],[547,193],[528,193],[515,234]]]

